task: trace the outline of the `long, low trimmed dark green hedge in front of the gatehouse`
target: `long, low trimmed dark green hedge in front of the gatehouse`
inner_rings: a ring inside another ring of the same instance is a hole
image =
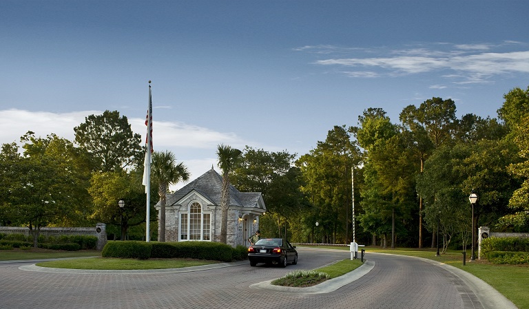
[[[139,251],[138,244],[147,245],[150,247],[149,256],[143,257],[147,259],[162,258],[162,259],[176,259],[176,258],[191,258],[191,259],[209,259],[213,261],[231,262],[235,260],[242,260],[247,258],[247,248],[245,246],[238,246],[233,248],[227,244],[220,242],[135,242],[135,241],[114,241],[107,242],[103,248],[103,257],[128,257],[132,256],[129,251]],[[240,247],[240,248],[239,248]]]

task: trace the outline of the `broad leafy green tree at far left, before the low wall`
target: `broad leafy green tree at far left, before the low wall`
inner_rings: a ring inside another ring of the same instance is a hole
[[[14,224],[28,226],[37,247],[42,227],[76,222],[71,218],[79,215],[87,198],[85,174],[79,169],[78,153],[68,140],[54,134],[35,138],[28,132],[21,141],[25,142],[22,156],[15,152],[18,149],[15,144],[2,148],[1,179],[6,185],[6,195],[1,213]]]

